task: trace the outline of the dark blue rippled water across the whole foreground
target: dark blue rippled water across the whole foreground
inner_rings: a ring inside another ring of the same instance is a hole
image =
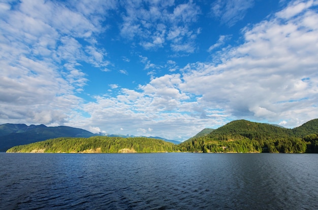
[[[318,154],[0,153],[0,209],[318,209]]]

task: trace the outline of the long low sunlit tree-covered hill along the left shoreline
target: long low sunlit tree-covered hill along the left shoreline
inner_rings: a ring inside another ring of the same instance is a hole
[[[15,146],[7,152],[45,153],[125,153],[125,152],[173,152],[174,144],[147,137],[108,137],[88,138],[63,137],[28,145]]]

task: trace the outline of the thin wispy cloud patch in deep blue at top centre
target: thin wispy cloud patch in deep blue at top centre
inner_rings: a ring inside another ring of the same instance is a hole
[[[122,37],[136,40],[146,50],[162,48],[170,41],[172,50],[194,52],[200,30],[189,30],[189,26],[197,21],[200,8],[192,1],[176,6],[173,1],[127,1],[122,5]]]

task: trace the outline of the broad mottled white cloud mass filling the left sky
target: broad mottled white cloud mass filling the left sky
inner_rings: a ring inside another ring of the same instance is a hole
[[[76,93],[87,82],[81,63],[108,64],[107,53],[91,40],[102,31],[101,17],[114,2],[91,7],[95,3],[77,4],[87,16],[59,2],[26,0],[14,8],[1,3],[0,116],[4,122],[68,122],[66,113],[78,108],[82,99]]]

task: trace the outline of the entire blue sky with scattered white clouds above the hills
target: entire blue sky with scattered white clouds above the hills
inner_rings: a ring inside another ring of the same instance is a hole
[[[0,0],[0,124],[184,141],[317,96],[316,0]]]

